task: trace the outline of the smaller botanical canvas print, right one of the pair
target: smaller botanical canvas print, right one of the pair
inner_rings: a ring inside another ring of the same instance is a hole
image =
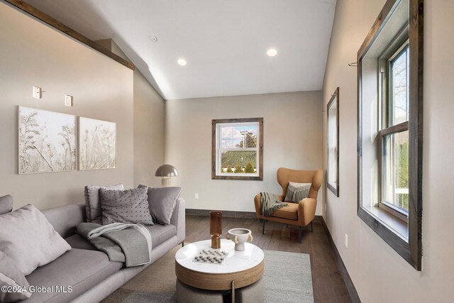
[[[116,168],[116,123],[79,118],[79,170]]]

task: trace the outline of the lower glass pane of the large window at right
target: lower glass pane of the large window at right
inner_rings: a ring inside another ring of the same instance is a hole
[[[409,211],[409,131],[383,138],[382,199]]]

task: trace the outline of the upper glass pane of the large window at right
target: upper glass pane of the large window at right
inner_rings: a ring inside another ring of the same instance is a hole
[[[397,55],[391,62],[391,125],[409,120],[409,48]]]

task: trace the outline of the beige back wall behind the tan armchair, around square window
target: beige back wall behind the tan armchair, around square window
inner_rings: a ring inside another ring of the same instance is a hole
[[[278,167],[319,169],[321,103],[320,92],[166,101],[165,160],[179,171],[172,184],[183,187],[187,208],[255,211],[255,194],[282,192]],[[264,119],[263,181],[211,180],[211,120],[258,117]]]

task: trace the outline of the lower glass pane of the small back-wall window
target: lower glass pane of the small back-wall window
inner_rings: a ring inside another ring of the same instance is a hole
[[[221,152],[221,172],[252,174],[257,172],[257,152],[233,150]]]

